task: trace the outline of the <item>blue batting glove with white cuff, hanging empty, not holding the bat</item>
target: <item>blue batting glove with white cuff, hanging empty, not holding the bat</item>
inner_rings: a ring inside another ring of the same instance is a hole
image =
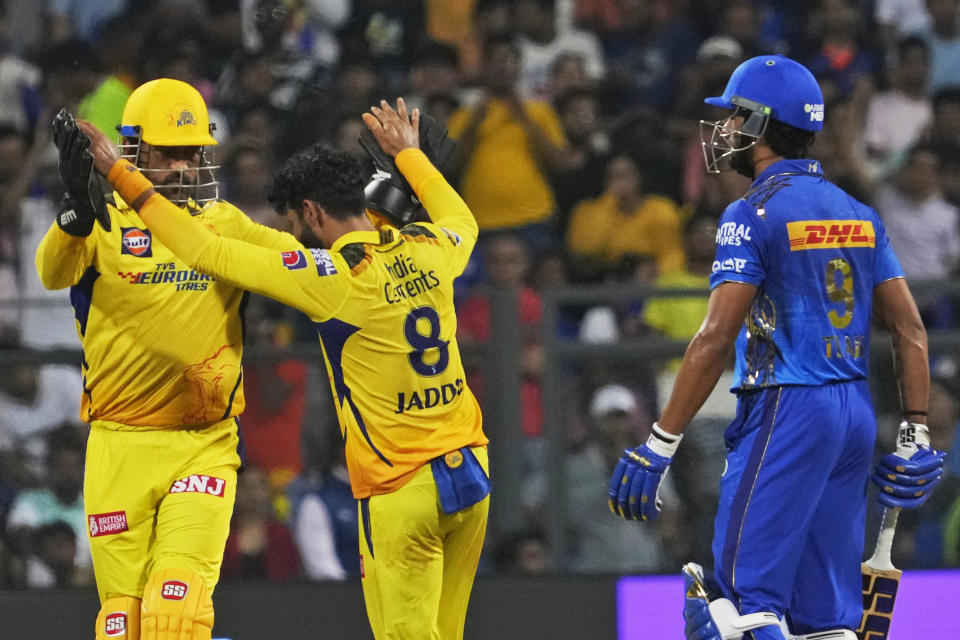
[[[682,435],[673,435],[653,423],[647,443],[627,449],[610,476],[610,510],[627,520],[660,517],[660,482],[666,475]]]

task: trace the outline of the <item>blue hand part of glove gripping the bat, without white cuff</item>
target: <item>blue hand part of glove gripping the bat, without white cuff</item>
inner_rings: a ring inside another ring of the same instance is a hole
[[[940,482],[946,455],[944,451],[920,447],[907,459],[898,453],[883,456],[871,478],[880,488],[877,500],[885,507],[919,507]]]

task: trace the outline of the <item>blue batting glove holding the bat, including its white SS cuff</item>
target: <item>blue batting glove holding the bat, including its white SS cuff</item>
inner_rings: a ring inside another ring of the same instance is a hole
[[[930,448],[926,425],[902,422],[896,453],[883,456],[873,472],[873,483],[880,488],[877,500],[885,507],[919,507],[940,482],[946,455]]]

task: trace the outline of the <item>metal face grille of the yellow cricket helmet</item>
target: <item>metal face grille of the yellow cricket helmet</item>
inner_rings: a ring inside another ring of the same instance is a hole
[[[148,152],[149,145],[145,145],[140,135],[139,127],[124,128],[121,133],[118,148],[120,156],[135,165],[148,179],[158,174],[177,174],[177,179],[166,184],[154,184],[154,189],[170,202],[186,206],[192,210],[199,210],[211,202],[220,199],[220,183],[216,178],[216,170],[220,165],[214,164],[208,153],[208,147],[199,147],[200,162],[196,167],[185,169],[150,169],[143,166],[143,154]],[[134,135],[126,135],[133,133]]]

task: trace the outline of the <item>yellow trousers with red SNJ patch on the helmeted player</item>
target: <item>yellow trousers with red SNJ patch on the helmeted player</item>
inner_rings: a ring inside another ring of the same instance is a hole
[[[100,602],[141,598],[150,574],[188,569],[212,591],[237,491],[239,425],[91,424],[83,499]]]

